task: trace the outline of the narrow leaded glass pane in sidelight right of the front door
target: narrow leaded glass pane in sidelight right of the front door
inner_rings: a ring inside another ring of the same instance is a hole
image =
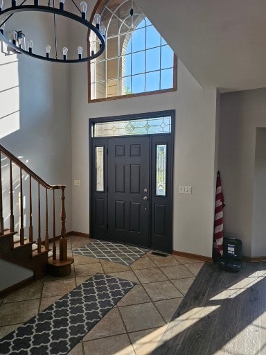
[[[166,144],[156,146],[156,196],[166,196]]]

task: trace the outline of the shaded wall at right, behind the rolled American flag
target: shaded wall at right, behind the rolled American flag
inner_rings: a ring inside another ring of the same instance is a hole
[[[254,237],[256,128],[266,127],[266,89],[221,95],[219,168],[226,207],[226,234],[242,240],[243,254],[266,254],[264,237]],[[260,186],[263,193],[265,187]],[[255,191],[257,195],[257,192]],[[260,230],[263,225],[257,226]],[[255,230],[256,228],[255,227]]]

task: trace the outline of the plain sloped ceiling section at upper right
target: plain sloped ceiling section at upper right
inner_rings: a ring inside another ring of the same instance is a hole
[[[202,87],[266,87],[265,0],[135,1]]]

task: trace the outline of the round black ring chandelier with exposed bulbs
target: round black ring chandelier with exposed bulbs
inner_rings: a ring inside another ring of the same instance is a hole
[[[47,6],[39,5],[39,0],[24,0],[20,5],[17,5],[17,0],[8,0],[11,6],[8,8],[3,8],[3,0],[0,0],[0,40],[8,44],[8,46],[16,53],[24,53],[30,55],[31,57],[47,60],[49,62],[60,62],[60,63],[77,63],[77,62],[88,62],[97,58],[105,50],[105,26],[100,26],[100,15],[96,14],[94,16],[94,21],[91,23],[86,19],[87,3],[82,1],[80,3],[80,8],[76,3],[71,0],[73,5],[80,12],[80,16],[64,10],[64,0],[60,0],[59,7],[55,6],[55,0],[53,0],[53,6],[51,5],[51,0],[48,0]],[[24,5],[26,1],[31,1],[32,3]],[[6,1],[5,1],[6,2]],[[8,39],[5,34],[5,24],[17,12],[48,12],[53,14],[53,35],[55,40],[55,57],[51,56],[51,46],[49,44],[44,44],[44,55],[35,53],[33,47],[33,40],[28,40],[28,48],[26,48],[26,35],[22,31],[12,31],[12,37]],[[85,57],[82,57],[83,49],[82,46],[78,46],[76,58],[67,58],[68,48],[62,48],[62,54],[59,55],[57,49],[57,31],[56,31],[56,17],[59,15],[62,17],[67,17],[73,21],[76,21],[83,26],[85,26],[90,33],[94,35],[94,42],[91,42],[90,49]]]

